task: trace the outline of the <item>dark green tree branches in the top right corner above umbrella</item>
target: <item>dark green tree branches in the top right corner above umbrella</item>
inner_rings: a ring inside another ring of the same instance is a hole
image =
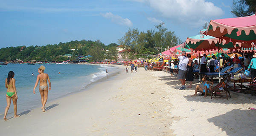
[[[255,14],[256,0],[233,0],[232,11],[234,17],[245,17]]]

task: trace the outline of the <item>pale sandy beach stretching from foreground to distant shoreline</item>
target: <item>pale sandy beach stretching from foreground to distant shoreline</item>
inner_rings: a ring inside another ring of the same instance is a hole
[[[0,121],[1,136],[256,135],[256,110],[248,109],[256,108],[256,96],[231,92],[228,100],[191,97],[198,80],[179,90],[177,76],[143,68],[126,74],[125,66],[115,66],[120,74],[47,102],[45,113],[38,107],[18,110],[18,118],[8,114],[8,121]]]

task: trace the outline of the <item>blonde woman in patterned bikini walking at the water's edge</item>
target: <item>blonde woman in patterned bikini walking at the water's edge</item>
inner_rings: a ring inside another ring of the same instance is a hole
[[[47,80],[49,82],[49,90],[51,90],[51,81],[50,78],[48,76],[48,74],[44,73],[45,67],[43,65],[41,65],[40,68],[38,68],[38,76],[35,82],[35,87],[34,87],[34,94],[35,94],[35,88],[38,85],[38,82],[40,81],[39,84],[39,92],[41,94],[41,101],[42,101],[42,110],[45,112],[44,106],[47,102],[47,98],[48,98],[48,86],[47,86]]]

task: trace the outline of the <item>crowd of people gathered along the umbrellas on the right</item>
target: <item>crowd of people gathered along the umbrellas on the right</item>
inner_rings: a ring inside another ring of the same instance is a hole
[[[165,63],[165,62],[162,62]],[[131,72],[133,72],[134,67],[137,70],[137,63],[131,64]],[[143,62],[142,66],[144,70],[147,71],[153,67],[159,67],[161,65],[160,62]],[[207,54],[203,54],[202,56],[196,56],[195,59],[191,58],[191,54],[186,54],[186,51],[181,52],[181,56],[177,57],[177,59],[170,60],[165,64],[169,66],[169,70],[171,76],[173,76],[174,71],[178,71],[178,79],[181,82],[180,90],[185,90],[185,82],[189,82],[189,86],[187,88],[192,88],[192,81],[194,81],[194,77],[197,78],[200,73],[206,72],[218,72],[224,69],[227,66],[231,66],[233,69],[238,67],[243,67],[244,70],[248,70],[251,73],[251,78],[254,79],[256,77],[256,53],[246,54],[244,57],[238,57],[236,54],[235,57],[227,58],[225,54],[222,53],[220,56],[212,55],[211,58],[207,57]],[[205,80],[204,80],[205,79]],[[206,77],[202,77],[202,81],[204,81],[204,87],[201,88],[196,86],[195,95],[198,90],[200,91],[209,91],[211,86],[209,84],[213,84],[210,81],[207,81]],[[195,96],[193,95],[193,96]]]

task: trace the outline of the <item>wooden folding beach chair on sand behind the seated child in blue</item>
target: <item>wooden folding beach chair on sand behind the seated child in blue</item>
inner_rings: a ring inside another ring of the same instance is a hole
[[[228,74],[227,77],[222,79],[221,82],[219,82],[217,85],[215,85],[215,87],[212,88],[212,90],[210,91],[211,99],[212,98],[227,98],[228,99],[228,96],[230,96],[230,92],[228,91],[228,86],[229,86],[231,76],[232,76],[232,73]],[[221,95],[220,94],[221,92],[224,92],[225,95]],[[214,97],[212,97],[212,94],[214,94]],[[229,94],[229,95],[227,95],[227,94]],[[230,98],[231,98],[231,96],[230,96]]]

